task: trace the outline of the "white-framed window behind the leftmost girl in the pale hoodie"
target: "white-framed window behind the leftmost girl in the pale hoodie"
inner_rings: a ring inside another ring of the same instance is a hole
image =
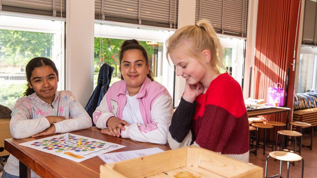
[[[27,15],[26,15],[27,16]],[[58,90],[65,88],[64,22],[0,16],[0,103],[13,109],[26,89],[26,64],[47,57],[59,71]]]

